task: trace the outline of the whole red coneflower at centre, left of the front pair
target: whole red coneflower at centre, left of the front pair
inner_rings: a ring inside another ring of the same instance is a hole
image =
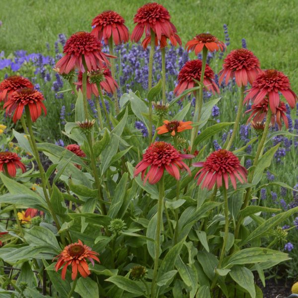
[[[181,154],[174,146],[165,142],[155,142],[143,154],[143,159],[136,165],[134,176],[142,172],[144,185],[147,180],[150,184],[157,183],[166,170],[177,180],[180,179],[180,169],[186,169],[191,174],[189,167],[182,161],[183,158],[192,158],[193,155]],[[146,177],[146,171],[150,167]]]

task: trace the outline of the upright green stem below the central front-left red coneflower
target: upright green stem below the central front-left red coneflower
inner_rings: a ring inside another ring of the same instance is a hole
[[[157,224],[155,231],[155,258],[154,258],[154,269],[153,269],[153,278],[151,284],[151,297],[155,297],[156,290],[156,278],[157,278],[157,269],[158,269],[158,260],[159,260],[159,246],[160,246],[160,231],[162,225],[162,207],[163,207],[163,197],[164,197],[164,176],[159,181],[159,196],[158,196],[158,206],[157,206]]]

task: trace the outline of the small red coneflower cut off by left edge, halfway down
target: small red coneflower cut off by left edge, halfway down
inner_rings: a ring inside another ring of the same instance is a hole
[[[26,166],[20,160],[21,157],[16,153],[0,152],[0,171],[5,172],[7,170],[11,177],[15,177],[17,168],[20,168],[24,173]]]

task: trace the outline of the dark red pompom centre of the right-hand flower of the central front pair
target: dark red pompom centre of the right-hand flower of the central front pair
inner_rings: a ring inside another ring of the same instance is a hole
[[[230,151],[220,149],[210,154],[204,167],[210,172],[232,173],[240,166],[239,159]]]

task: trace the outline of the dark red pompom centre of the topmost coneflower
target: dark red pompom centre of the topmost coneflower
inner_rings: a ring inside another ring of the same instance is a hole
[[[147,3],[138,9],[134,17],[136,23],[152,23],[156,21],[170,20],[169,12],[156,2]]]

